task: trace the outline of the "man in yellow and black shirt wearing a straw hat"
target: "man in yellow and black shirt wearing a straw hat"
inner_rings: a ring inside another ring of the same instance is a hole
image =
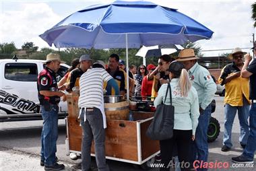
[[[232,59],[232,63],[226,65],[220,74],[219,82],[225,85],[225,122],[222,151],[229,151],[232,147],[231,134],[236,110],[238,111],[238,119],[240,123],[239,141],[243,148],[247,144],[249,136],[249,79],[241,77],[241,69],[243,68],[243,57],[245,53],[241,48],[234,48],[228,56]]]

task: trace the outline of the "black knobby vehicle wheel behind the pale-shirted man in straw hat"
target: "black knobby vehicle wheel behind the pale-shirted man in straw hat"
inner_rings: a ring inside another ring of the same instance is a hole
[[[207,141],[208,143],[212,143],[215,141],[220,134],[220,123],[214,117],[210,118],[210,123],[208,125],[207,130]]]

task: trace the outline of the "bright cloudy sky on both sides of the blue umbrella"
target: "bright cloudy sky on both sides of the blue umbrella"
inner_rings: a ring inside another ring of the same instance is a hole
[[[129,0],[128,0],[129,1]],[[131,1],[131,0],[130,0]],[[232,49],[235,47],[252,47],[253,20],[251,5],[255,1],[216,1],[216,0],[148,0],[158,5],[178,9],[179,12],[197,20],[214,35],[210,40],[199,40],[196,43],[202,50]],[[49,30],[71,13],[94,4],[113,1],[13,1],[0,0],[0,43],[14,42],[21,48],[24,42],[34,42],[39,48],[49,47],[38,35]],[[256,40],[256,35],[255,35]],[[231,53],[232,50],[202,51],[205,57]]]

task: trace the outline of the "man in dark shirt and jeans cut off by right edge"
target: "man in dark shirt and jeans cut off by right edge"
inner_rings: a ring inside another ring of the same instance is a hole
[[[254,54],[256,54],[256,42],[254,42],[253,45],[253,52]],[[256,151],[256,59],[254,59],[253,62],[251,62],[251,64],[249,65],[250,61],[251,56],[247,53],[247,55],[245,55],[245,63],[241,70],[242,77],[250,78],[250,132],[247,140],[247,145],[245,146],[242,155],[232,158],[232,161],[236,163],[253,163],[254,153]]]

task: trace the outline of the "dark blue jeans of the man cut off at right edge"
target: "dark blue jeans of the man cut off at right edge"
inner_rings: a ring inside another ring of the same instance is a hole
[[[250,133],[243,156],[247,157],[248,160],[253,160],[256,151],[256,103],[251,104],[249,123]]]

